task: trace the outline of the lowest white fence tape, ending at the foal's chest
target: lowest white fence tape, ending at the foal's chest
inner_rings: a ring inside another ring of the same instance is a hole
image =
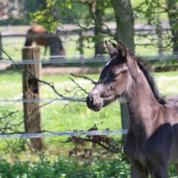
[[[34,133],[6,133],[0,134],[0,139],[31,139],[31,138],[43,138],[43,137],[57,137],[57,136],[94,136],[94,135],[126,135],[126,129],[120,130],[104,130],[104,131],[64,131],[64,132],[53,132],[53,131],[44,131],[44,132],[34,132]]]

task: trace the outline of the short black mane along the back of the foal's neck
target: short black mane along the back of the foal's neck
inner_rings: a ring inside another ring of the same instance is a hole
[[[151,88],[151,90],[152,90],[152,92],[153,92],[153,94],[154,94],[154,96],[156,98],[156,100],[160,104],[163,104],[163,105],[166,104],[165,99],[163,97],[161,97],[160,94],[159,94],[158,88],[156,86],[156,83],[155,83],[153,77],[150,75],[150,73],[146,70],[146,68],[144,67],[144,65],[140,61],[137,60],[137,64],[138,64],[140,70],[145,75],[145,77],[146,77],[146,79],[147,79],[147,81],[148,81],[148,83],[150,85],[150,88]]]

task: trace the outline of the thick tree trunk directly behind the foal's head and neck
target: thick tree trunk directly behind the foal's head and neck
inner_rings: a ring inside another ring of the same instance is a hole
[[[116,19],[116,36],[115,40],[122,41],[126,47],[134,53],[134,16],[129,0],[111,0]],[[128,129],[130,120],[127,104],[121,104],[122,128]]]

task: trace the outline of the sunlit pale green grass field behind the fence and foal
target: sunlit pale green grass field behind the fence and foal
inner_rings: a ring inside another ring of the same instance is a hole
[[[178,73],[177,72],[163,72],[153,74],[158,84],[161,94],[166,96],[174,96],[178,94]],[[94,80],[97,80],[98,75],[89,75]],[[50,75],[42,76],[42,79],[54,83],[57,90],[68,96],[85,96],[82,92],[76,89],[74,83],[70,80],[70,75]],[[76,81],[83,86],[87,91],[90,91],[92,84],[84,79],[76,78]],[[0,73],[1,92],[0,100],[16,100],[22,98],[22,79],[21,73],[17,71],[5,71]],[[51,90],[50,87],[41,85],[40,95],[43,99],[54,99],[58,96]],[[40,105],[45,102],[40,103]],[[22,103],[0,102],[0,117],[9,112],[17,111],[8,119],[12,123],[19,123],[23,121]],[[118,101],[112,103],[100,112],[93,112],[89,110],[85,103],[67,103],[63,101],[53,102],[41,108],[42,115],[42,129],[50,131],[73,131],[73,130],[87,130],[94,124],[100,130],[109,128],[116,130],[121,128],[120,122],[120,107]],[[0,128],[3,123],[0,123]],[[23,125],[16,127],[17,130],[23,131]],[[66,150],[70,150],[72,145],[63,144],[66,137],[54,137],[45,139],[48,154],[65,155]],[[0,144],[0,154],[4,156],[4,149],[7,148],[6,142]],[[65,148],[65,149],[64,149]],[[13,148],[14,151],[14,148]],[[17,149],[18,152],[18,149]],[[26,154],[28,155],[28,154]],[[30,154],[29,154],[30,156]],[[23,154],[22,154],[22,157]],[[28,158],[28,156],[26,157]]]

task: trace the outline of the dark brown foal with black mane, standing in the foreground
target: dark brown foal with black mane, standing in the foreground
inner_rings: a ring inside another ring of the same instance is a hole
[[[167,178],[168,165],[178,164],[178,102],[159,96],[152,77],[122,43],[107,44],[111,59],[87,97],[87,105],[99,111],[124,97],[130,128],[124,151],[132,178]]]

